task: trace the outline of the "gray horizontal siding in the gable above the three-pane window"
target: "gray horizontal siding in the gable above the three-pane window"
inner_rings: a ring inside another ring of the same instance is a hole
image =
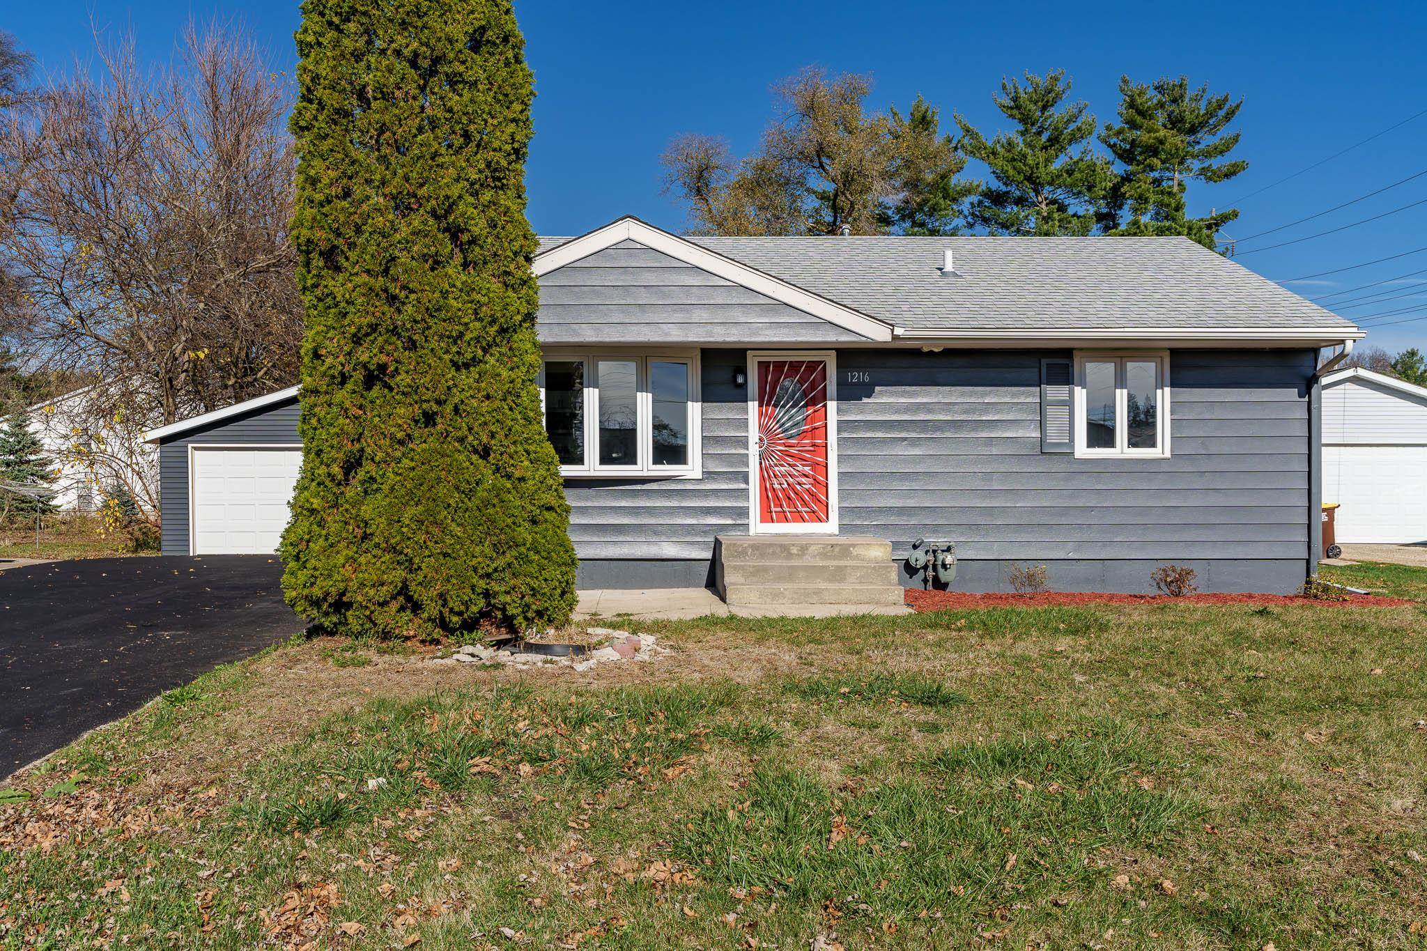
[[[539,279],[542,344],[865,341],[636,241]]]

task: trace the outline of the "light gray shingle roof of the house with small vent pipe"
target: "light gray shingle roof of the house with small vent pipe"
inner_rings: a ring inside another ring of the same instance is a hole
[[[689,240],[908,329],[1353,329],[1186,238]],[[940,275],[943,248],[960,277]]]

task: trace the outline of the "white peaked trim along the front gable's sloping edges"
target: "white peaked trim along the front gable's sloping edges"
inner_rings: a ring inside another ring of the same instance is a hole
[[[752,268],[715,251],[709,251],[708,248],[699,247],[692,241],[655,228],[651,224],[645,224],[638,218],[619,218],[615,222],[606,224],[604,228],[572,238],[565,244],[545,251],[544,254],[538,254],[535,255],[531,269],[535,272],[535,277],[544,277],[551,271],[558,271],[567,264],[574,264],[575,261],[588,258],[596,251],[604,251],[605,248],[614,247],[621,241],[631,240],[654,248],[661,254],[666,254],[676,261],[692,264],[694,267],[708,271],[709,274],[716,274],[721,278],[746,287],[749,291],[756,291],[773,298],[775,301],[786,304],[788,307],[795,307],[805,314],[812,314],[813,317],[822,318],[845,331],[860,334],[869,341],[888,342],[898,332],[900,332],[900,328],[893,327],[892,324],[868,317],[862,311],[855,311],[850,307],[838,304],[836,301],[829,301],[828,298],[813,294],[812,291],[805,291],[795,284],[783,281],[782,278],[775,278],[765,271],[759,271],[758,268]]]

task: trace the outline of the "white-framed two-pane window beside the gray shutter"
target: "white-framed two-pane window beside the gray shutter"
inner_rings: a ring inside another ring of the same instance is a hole
[[[1076,354],[1077,456],[1169,455],[1169,354]]]

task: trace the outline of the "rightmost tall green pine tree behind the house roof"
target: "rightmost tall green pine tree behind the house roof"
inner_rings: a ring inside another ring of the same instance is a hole
[[[1189,78],[1160,78],[1150,84],[1120,77],[1119,124],[1100,133],[1120,165],[1109,234],[1182,234],[1214,248],[1214,234],[1239,217],[1236,208],[1202,218],[1186,214],[1190,181],[1227,181],[1249,163],[1227,158],[1239,133],[1226,133],[1243,100],[1210,96],[1207,86],[1190,88]]]

